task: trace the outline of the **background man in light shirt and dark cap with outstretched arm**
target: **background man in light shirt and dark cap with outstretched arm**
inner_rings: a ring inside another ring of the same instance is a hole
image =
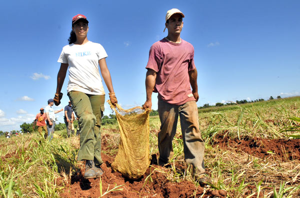
[[[53,138],[54,128],[55,128],[55,113],[63,111],[60,109],[58,111],[54,111],[52,106],[54,105],[53,99],[48,100],[48,105],[45,107],[45,113],[47,118],[47,131],[48,131],[48,139],[49,141]]]

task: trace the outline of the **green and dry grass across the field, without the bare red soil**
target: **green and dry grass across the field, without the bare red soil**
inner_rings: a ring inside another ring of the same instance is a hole
[[[243,136],[275,138],[297,138],[298,131],[290,131],[300,123],[300,97],[199,109],[199,128],[205,140],[205,167],[213,180],[205,191],[214,189],[227,191],[228,198],[257,197],[297,197],[299,194],[299,161],[280,161],[271,158],[259,159],[244,153],[232,153],[213,147],[212,139],[227,134],[230,138]],[[294,118],[294,119],[290,119]],[[150,117],[150,155],[157,154],[158,116]],[[114,155],[119,142],[118,126],[105,125],[101,128],[105,141],[109,141]],[[64,177],[79,168],[76,161],[79,141],[76,137],[63,138],[63,131],[55,132],[52,141],[43,141],[37,133],[0,137],[0,197],[56,198],[64,186],[57,178]],[[190,168],[182,172],[184,156],[181,129],[173,140],[171,167],[167,170],[151,168],[150,173],[160,172],[171,182],[187,180],[193,182]],[[104,139],[102,139],[104,141]],[[151,175],[146,182],[151,182]],[[197,184],[195,184],[197,185]],[[114,187],[112,190],[117,190]],[[110,190],[106,190],[109,192]],[[105,192],[103,192],[104,194]]]

